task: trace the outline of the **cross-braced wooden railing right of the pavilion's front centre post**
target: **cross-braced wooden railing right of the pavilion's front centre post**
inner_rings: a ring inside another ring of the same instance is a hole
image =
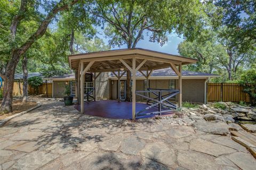
[[[163,95],[163,92],[167,92],[167,94]],[[135,93],[136,95],[146,98],[147,104],[151,104],[151,105],[137,112],[135,116],[138,117],[138,116],[152,115],[152,114],[161,115],[162,113],[172,112],[173,109],[177,108],[177,106],[171,103],[171,101],[169,101],[168,99],[174,97],[175,95],[178,95],[179,92],[180,92],[179,90],[170,90],[170,89],[148,89],[145,91],[136,91]],[[145,95],[142,95],[142,93],[143,94],[146,93],[148,95],[145,96]],[[150,93],[154,94],[157,97],[150,98]],[[158,107],[158,112],[143,113],[153,107]]]

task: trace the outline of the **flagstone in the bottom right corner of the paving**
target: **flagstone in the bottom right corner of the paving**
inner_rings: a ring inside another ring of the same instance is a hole
[[[235,152],[234,154],[228,155],[227,158],[241,169],[255,169],[256,167],[256,160],[250,154]]]

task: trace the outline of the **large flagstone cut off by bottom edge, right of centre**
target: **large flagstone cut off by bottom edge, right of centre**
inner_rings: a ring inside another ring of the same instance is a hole
[[[178,151],[178,165],[191,170],[219,169],[214,157],[194,151]]]

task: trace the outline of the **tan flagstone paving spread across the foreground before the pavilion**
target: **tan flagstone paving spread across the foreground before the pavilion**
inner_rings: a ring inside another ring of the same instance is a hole
[[[255,169],[230,135],[199,130],[170,119],[87,116],[44,101],[0,128],[0,169]]]

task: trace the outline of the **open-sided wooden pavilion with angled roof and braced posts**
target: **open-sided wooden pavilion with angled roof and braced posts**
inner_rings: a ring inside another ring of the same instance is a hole
[[[135,120],[135,95],[136,91],[136,72],[140,72],[147,80],[153,70],[171,67],[172,70],[178,75],[179,78],[179,100],[178,105],[181,107],[182,103],[182,89],[181,89],[181,71],[182,65],[196,63],[197,60],[193,58],[182,57],[167,53],[156,52],[142,48],[131,49],[117,49],[102,52],[93,52],[85,54],[70,55],[69,66],[71,69],[77,71],[78,81],[78,95],[81,100],[80,111],[84,113],[84,75],[86,72],[92,72],[95,87],[95,79],[97,79],[101,72],[112,72],[118,79],[118,96],[119,96],[119,81],[127,70],[132,73],[132,119]],[[94,90],[95,94],[95,90]],[[138,95],[138,94],[137,94]],[[159,99],[162,97],[159,97]],[[119,99],[118,99],[119,100]],[[159,101],[159,104],[163,104]]]

